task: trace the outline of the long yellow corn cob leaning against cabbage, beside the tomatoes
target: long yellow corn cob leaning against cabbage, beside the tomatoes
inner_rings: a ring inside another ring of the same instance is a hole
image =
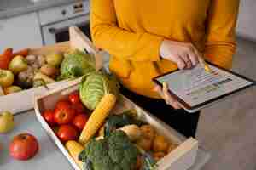
[[[96,132],[102,127],[109,112],[115,105],[116,97],[113,94],[105,94],[101,102],[96,106],[96,109],[90,115],[82,133],[79,137],[80,144],[86,144],[88,140],[93,137]]]

